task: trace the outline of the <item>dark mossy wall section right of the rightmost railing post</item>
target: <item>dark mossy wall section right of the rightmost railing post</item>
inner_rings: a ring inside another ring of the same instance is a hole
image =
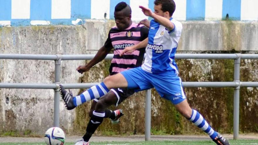
[[[258,81],[258,60],[241,60],[241,81]],[[258,88],[240,89],[240,131],[258,132]]]

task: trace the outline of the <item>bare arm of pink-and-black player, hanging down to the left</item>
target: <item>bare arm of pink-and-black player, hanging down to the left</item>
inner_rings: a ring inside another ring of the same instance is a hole
[[[110,52],[111,49],[112,48],[106,48],[106,47],[102,46],[99,49],[99,51],[97,52],[97,54],[94,56],[94,58],[91,59],[91,61],[89,63],[78,66],[76,70],[81,74],[86,71],[89,71],[91,69],[91,67],[93,67],[97,63],[101,62],[107,56],[107,54]]]

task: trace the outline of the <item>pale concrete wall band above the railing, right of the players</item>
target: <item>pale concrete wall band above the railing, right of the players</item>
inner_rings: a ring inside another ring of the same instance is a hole
[[[184,21],[180,51],[257,51],[258,23]]]

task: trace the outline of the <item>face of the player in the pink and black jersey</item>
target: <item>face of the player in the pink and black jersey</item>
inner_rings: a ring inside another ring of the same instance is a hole
[[[125,16],[122,11],[114,13],[115,21],[116,21],[116,26],[119,30],[124,30],[130,26],[130,20],[131,18],[128,16]]]

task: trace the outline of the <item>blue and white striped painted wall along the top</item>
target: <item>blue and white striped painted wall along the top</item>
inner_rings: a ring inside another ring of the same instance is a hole
[[[153,10],[154,0],[0,0],[0,26],[77,25],[84,19],[114,19],[116,4],[125,1],[132,8],[132,19],[146,17],[139,5]],[[257,21],[257,0],[174,0],[178,20]]]

